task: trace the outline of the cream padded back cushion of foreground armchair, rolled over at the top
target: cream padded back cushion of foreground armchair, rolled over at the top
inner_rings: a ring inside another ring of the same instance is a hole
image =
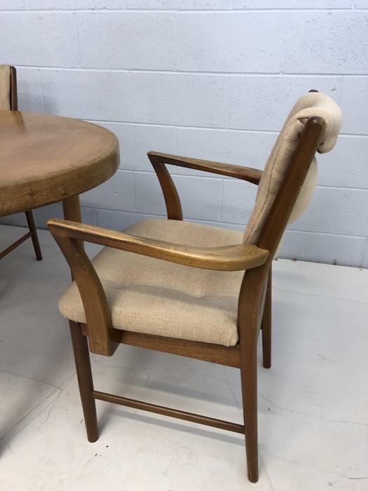
[[[292,108],[264,168],[259,182],[256,203],[243,236],[244,243],[257,244],[266,223],[275,197],[282,186],[287,168],[297,149],[301,134],[308,119],[318,116],[325,121],[325,132],[320,140],[318,152],[329,152],[335,145],[341,128],[341,109],[328,95],[309,92],[303,95]],[[288,224],[297,220],[310,203],[317,183],[317,161],[313,157],[311,166],[299,191]]]

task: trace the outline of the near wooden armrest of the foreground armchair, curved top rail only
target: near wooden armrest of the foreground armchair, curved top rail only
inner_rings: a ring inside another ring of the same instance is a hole
[[[268,250],[259,249],[256,245],[235,244],[216,248],[193,248],[184,244],[132,236],[67,220],[53,219],[47,224],[54,237],[97,243],[200,269],[217,271],[251,269],[264,264],[269,254]]]

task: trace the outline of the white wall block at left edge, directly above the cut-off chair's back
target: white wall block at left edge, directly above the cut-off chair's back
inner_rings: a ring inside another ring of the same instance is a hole
[[[72,13],[1,13],[2,63],[78,67],[78,43]],[[4,50],[6,46],[6,50]]]

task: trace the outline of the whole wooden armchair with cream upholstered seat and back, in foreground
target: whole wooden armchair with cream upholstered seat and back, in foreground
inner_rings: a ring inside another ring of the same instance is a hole
[[[289,114],[263,172],[149,152],[168,220],[143,220],[123,232],[48,222],[75,278],[59,307],[69,319],[88,440],[98,438],[95,399],[236,431],[245,434],[248,478],[257,481],[257,340],[261,330],[268,368],[271,264],[290,216],[311,197],[304,187],[315,182],[315,152],[334,147],[340,126],[339,107],[308,93]],[[184,222],[165,163],[259,184],[244,236]],[[107,247],[90,262],[83,241]],[[244,424],[95,390],[87,339],[90,351],[107,356],[125,343],[240,368]]]

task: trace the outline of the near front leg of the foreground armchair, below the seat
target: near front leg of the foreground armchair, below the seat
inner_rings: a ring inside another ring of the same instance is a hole
[[[83,336],[81,325],[69,321],[71,342],[73,344],[76,375],[78,377],[79,393],[81,394],[84,421],[88,441],[98,440],[98,426],[95,398],[93,398],[93,378],[90,368],[90,352],[86,336]]]

